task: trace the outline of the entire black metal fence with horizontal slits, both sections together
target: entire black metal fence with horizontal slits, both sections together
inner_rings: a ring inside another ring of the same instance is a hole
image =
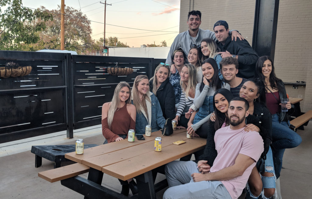
[[[116,85],[150,78],[165,59],[0,51],[0,70],[17,69],[8,62],[31,71],[0,78],[0,143],[62,130],[72,138],[73,129],[101,124]]]

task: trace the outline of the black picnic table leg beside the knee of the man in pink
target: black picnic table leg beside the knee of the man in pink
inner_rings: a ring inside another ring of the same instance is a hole
[[[141,174],[135,177],[135,179],[138,185],[138,191],[139,191],[138,198],[139,199],[145,199],[145,198],[156,199],[152,171]]]

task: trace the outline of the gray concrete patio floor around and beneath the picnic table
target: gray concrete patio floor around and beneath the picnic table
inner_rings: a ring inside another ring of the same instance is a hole
[[[312,195],[312,122],[304,131],[298,130],[297,133],[302,137],[302,143],[296,148],[286,149],[284,154],[280,177],[283,199],[309,199]],[[104,142],[98,125],[75,131],[73,139],[67,139],[66,132],[58,132],[0,144],[0,198],[83,198],[60,182],[50,183],[38,177],[38,172],[53,169],[53,163],[42,158],[41,167],[35,168],[35,155],[30,152],[32,145],[75,144],[79,138],[83,138],[85,144],[100,145]],[[87,173],[80,176],[87,178]],[[164,175],[158,174],[157,181],[162,179]],[[106,174],[102,186],[121,191],[119,181]],[[158,192],[157,198],[162,198],[164,191]]]

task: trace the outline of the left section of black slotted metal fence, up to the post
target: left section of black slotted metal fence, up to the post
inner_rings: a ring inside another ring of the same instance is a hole
[[[0,51],[0,143],[67,129],[66,57]]]

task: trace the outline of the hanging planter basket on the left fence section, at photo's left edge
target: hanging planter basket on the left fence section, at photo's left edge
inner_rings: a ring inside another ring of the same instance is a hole
[[[8,62],[5,66],[0,66],[0,77],[22,77],[32,71],[32,66],[20,66],[14,62]]]

